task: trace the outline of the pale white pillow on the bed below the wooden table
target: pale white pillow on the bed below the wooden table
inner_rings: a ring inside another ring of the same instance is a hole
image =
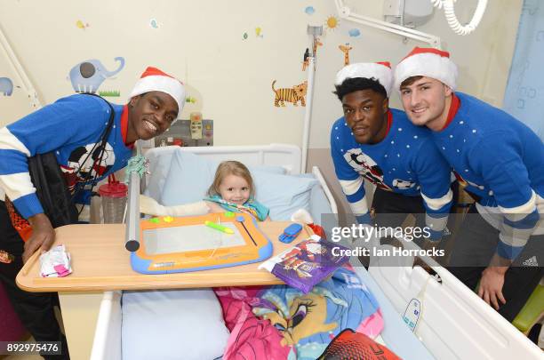
[[[125,360],[223,355],[229,332],[212,289],[123,292]]]

